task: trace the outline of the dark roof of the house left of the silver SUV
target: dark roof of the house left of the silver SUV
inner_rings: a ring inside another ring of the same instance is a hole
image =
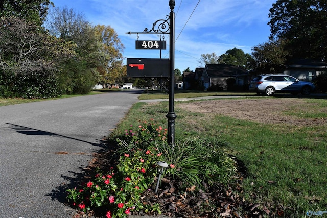
[[[245,69],[230,64],[206,64],[204,70],[208,77],[232,77],[248,74]]]

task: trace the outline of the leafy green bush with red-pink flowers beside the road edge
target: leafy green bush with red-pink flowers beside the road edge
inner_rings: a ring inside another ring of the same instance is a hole
[[[143,123],[146,124],[146,123]],[[153,123],[146,125],[146,130],[141,129],[136,135],[127,135],[132,143],[144,143],[147,137],[156,136],[155,140],[162,140],[165,135],[159,136],[162,128],[156,127]],[[150,131],[151,129],[151,131]],[[129,132],[131,133],[131,132]],[[126,134],[125,134],[126,135]],[[137,140],[141,137],[142,140]],[[134,144],[135,145],[135,144]],[[96,172],[88,182],[67,190],[67,199],[72,206],[86,213],[95,208],[102,208],[107,211],[106,217],[127,217],[132,211],[151,211],[155,208],[144,206],[140,203],[142,193],[149,190],[154,183],[157,174],[157,162],[162,160],[162,153],[154,147],[140,149],[118,150],[120,158],[116,167],[111,167],[110,172]],[[157,207],[154,205],[153,207]],[[160,210],[156,210],[160,213]]]

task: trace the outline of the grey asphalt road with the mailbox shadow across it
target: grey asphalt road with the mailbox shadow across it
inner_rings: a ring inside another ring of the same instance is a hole
[[[0,107],[0,217],[72,217],[74,185],[141,91]]]

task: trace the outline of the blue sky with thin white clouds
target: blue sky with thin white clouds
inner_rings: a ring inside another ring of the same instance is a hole
[[[125,46],[125,58],[160,58],[159,50],[136,50],[137,35],[126,32],[150,30],[155,21],[165,19],[170,12],[169,0],[52,2],[56,7],[67,6],[84,14],[94,25],[111,26]],[[190,67],[194,71],[201,67],[201,54],[215,52],[219,56],[234,47],[250,54],[253,46],[268,41],[268,14],[276,0],[175,0],[175,3],[175,40],[179,36],[175,42],[175,69],[183,71]],[[169,34],[164,37],[167,50],[162,50],[162,58],[169,58]],[[139,40],[159,40],[159,36],[140,34]]]

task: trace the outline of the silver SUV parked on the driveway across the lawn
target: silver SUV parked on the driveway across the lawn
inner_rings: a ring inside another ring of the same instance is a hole
[[[249,86],[250,91],[256,91],[257,94],[265,93],[268,96],[275,92],[290,92],[303,95],[309,95],[315,86],[311,82],[300,81],[287,74],[269,74],[255,77]]]

